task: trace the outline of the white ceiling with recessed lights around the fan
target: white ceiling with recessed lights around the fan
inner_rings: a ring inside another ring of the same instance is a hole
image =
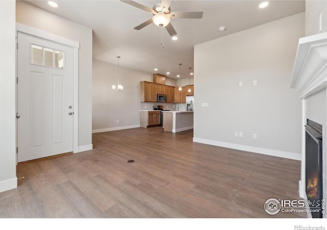
[[[160,45],[161,29],[154,24],[137,31],[133,28],[150,19],[152,14],[120,1],[56,1],[58,8],[46,1],[27,1],[32,5],[75,21],[93,30],[93,58],[153,74],[176,78],[182,63],[182,78],[193,70],[194,45],[213,40],[305,11],[305,1],[270,1],[260,9],[262,1],[172,1],[171,12],[202,11],[201,19],[171,20],[178,40],[173,41],[164,30],[164,44]],[[135,1],[151,8],[158,1]],[[225,26],[221,32],[219,27]],[[167,75],[166,72],[170,72]]]

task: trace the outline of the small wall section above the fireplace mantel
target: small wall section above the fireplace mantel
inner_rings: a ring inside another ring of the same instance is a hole
[[[327,2],[325,0],[306,1],[306,36],[324,32],[327,32]]]

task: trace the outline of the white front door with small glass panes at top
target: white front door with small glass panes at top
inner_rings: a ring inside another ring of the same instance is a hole
[[[73,151],[73,48],[18,32],[18,162]]]

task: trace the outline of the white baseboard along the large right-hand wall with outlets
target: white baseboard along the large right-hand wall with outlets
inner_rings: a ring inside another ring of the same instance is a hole
[[[253,146],[247,146],[247,145],[239,145],[239,144],[233,144],[233,143],[227,143],[227,142],[219,142],[219,141],[212,141],[202,138],[193,137],[193,142],[198,142],[202,144],[207,145],[215,145],[220,146],[224,148],[229,149],[237,149],[247,152],[254,152],[254,153],[261,153],[265,155],[270,156],[278,156],[288,159],[295,159],[295,160],[301,160],[301,154],[299,153],[293,153],[293,152],[285,152],[285,151],[279,151],[279,150],[273,150],[273,149],[265,149],[265,148],[259,148],[259,147],[253,147]]]

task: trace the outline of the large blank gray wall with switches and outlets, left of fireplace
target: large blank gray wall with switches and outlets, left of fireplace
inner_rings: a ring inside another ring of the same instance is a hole
[[[301,102],[290,81],[304,25],[300,13],[195,46],[194,141],[300,159]]]

